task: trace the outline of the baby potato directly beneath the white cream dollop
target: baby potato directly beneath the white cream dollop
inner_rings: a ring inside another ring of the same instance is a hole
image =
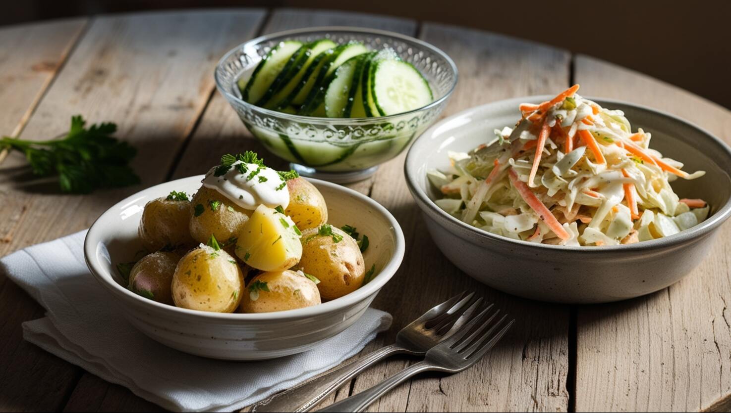
[[[200,187],[191,201],[190,234],[204,243],[215,236],[219,242],[235,238],[249,220],[251,212],[234,204],[219,191]]]

